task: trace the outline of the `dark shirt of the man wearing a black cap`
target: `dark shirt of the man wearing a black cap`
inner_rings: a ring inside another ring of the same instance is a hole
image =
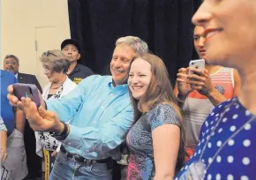
[[[88,76],[93,75],[94,72],[82,64],[77,64],[73,71],[68,75],[74,83],[79,84],[82,79],[86,79]]]

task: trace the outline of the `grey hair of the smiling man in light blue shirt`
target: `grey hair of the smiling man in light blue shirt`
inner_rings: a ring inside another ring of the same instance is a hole
[[[148,52],[147,42],[142,41],[139,37],[136,36],[125,36],[118,38],[116,41],[116,47],[123,44],[131,47],[137,55]]]

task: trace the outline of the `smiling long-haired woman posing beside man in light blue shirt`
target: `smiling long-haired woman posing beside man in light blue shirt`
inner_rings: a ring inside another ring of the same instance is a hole
[[[127,179],[171,179],[184,163],[184,127],[162,59],[136,57],[128,85],[136,123],[126,138],[131,150]]]

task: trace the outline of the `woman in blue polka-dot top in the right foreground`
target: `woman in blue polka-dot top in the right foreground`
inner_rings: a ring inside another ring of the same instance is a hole
[[[237,68],[242,88],[207,117],[195,153],[176,179],[256,179],[255,17],[255,0],[205,0],[192,19],[205,28],[207,63]]]

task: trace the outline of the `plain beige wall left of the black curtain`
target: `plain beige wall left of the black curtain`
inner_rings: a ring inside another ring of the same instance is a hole
[[[46,26],[56,28],[57,38],[49,38],[49,47],[60,49],[60,42],[70,38],[67,0],[2,0],[1,69],[4,56],[13,54],[19,57],[19,71],[37,75],[36,28]],[[44,36],[47,40],[52,34]]]

